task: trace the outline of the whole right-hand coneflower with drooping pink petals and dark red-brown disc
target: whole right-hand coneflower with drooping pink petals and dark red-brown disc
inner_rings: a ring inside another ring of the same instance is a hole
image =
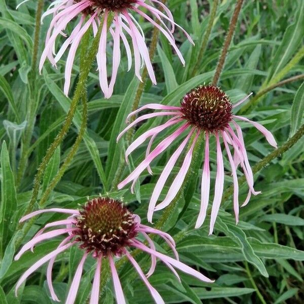
[[[133,192],[133,187],[136,180],[146,168],[151,174],[151,169],[149,167],[151,161],[153,161],[160,153],[162,153],[166,148],[168,148],[174,142],[174,140],[180,138],[182,134],[185,134],[186,136],[185,139],[182,141],[182,143],[179,145],[179,147],[176,149],[174,154],[169,159],[168,163],[166,164],[162,174],[160,175],[157,181],[148,208],[147,216],[150,222],[152,221],[153,212],[167,207],[172,202],[174,197],[177,195],[180,187],[182,186],[183,180],[186,176],[189,166],[191,164],[193,149],[201,133],[205,134],[205,161],[204,161],[204,168],[202,175],[201,210],[196,222],[196,228],[200,227],[203,224],[206,217],[206,211],[209,202],[209,192],[210,192],[209,138],[210,135],[212,134],[215,136],[215,141],[216,141],[217,174],[215,180],[214,199],[213,199],[212,211],[211,211],[210,234],[212,234],[213,232],[213,227],[219,210],[222,193],[223,193],[223,185],[224,185],[224,166],[223,166],[222,149],[220,146],[220,137],[222,138],[228,159],[231,164],[233,181],[234,181],[234,211],[236,215],[236,221],[238,222],[239,186],[238,186],[238,178],[237,178],[237,167],[239,164],[241,165],[244,171],[244,174],[246,176],[249,185],[249,193],[246,201],[242,206],[245,206],[248,203],[251,194],[257,195],[260,192],[256,192],[253,188],[253,173],[249,165],[246,148],[244,145],[242,130],[240,126],[235,122],[235,120],[241,120],[251,123],[265,136],[265,138],[272,146],[277,147],[276,140],[274,139],[271,132],[265,129],[262,125],[252,122],[247,118],[233,115],[232,113],[233,108],[236,105],[241,104],[249,96],[239,101],[237,104],[232,105],[230,98],[226,95],[225,92],[220,90],[218,87],[200,86],[192,90],[188,94],[186,94],[180,106],[147,104],[141,107],[140,109],[130,113],[130,115],[127,118],[127,121],[131,116],[135,115],[137,112],[142,111],[144,109],[164,110],[161,112],[146,114],[136,119],[118,136],[118,140],[127,130],[129,130],[135,124],[143,120],[153,117],[158,117],[158,116],[172,116],[172,118],[169,121],[167,121],[165,124],[155,127],[143,133],[127,148],[126,161],[128,162],[128,156],[130,155],[130,153],[134,149],[136,149],[141,143],[143,143],[147,138],[151,137],[147,147],[145,159],[124,181],[122,181],[118,185],[119,189],[124,187],[130,181],[133,181],[131,187],[131,191]],[[170,136],[165,138],[153,151],[150,152],[151,145],[157,134],[173,125],[179,125],[177,130],[174,131]],[[235,130],[233,130],[232,126],[235,127]],[[159,199],[159,196],[162,192],[165,182],[168,176],[170,175],[178,157],[181,155],[184,147],[186,146],[191,136],[194,136],[194,140],[192,141],[191,147],[186,153],[183,164],[177,176],[175,177],[174,181],[172,182],[172,185],[169,188],[165,200],[156,206],[156,203]],[[229,145],[234,148],[234,157],[231,154]]]

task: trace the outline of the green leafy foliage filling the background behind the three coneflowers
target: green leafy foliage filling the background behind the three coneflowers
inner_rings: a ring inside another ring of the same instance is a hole
[[[62,92],[66,56],[58,62],[58,69],[54,69],[47,62],[43,75],[37,70],[30,71],[35,3],[36,1],[29,1],[15,11],[15,1],[0,0],[0,304],[53,303],[50,300],[43,267],[28,278],[26,285],[20,288],[18,298],[15,297],[14,291],[22,273],[58,246],[59,239],[43,242],[35,247],[34,254],[26,252],[20,260],[13,260],[18,250],[15,242],[20,237],[20,231],[16,233],[16,227],[30,201],[36,168],[63,124],[71,103],[71,99]],[[160,35],[154,58],[158,84],[153,86],[147,82],[139,102],[140,106],[146,103],[179,105],[181,98],[189,90],[212,81],[236,1],[219,1],[208,46],[198,61],[198,48],[207,28],[209,3],[212,4],[212,1],[170,0],[167,3],[175,21],[192,35],[196,47],[185,40],[181,31],[176,30],[174,35],[186,59],[186,65],[182,67],[170,45]],[[138,19],[148,42],[151,27],[142,18]],[[220,87],[231,96],[234,103],[251,91],[255,95],[269,85],[304,73],[304,52],[301,52],[303,20],[302,0],[244,2],[219,81]],[[71,32],[77,22],[74,20],[69,23],[67,33]],[[50,18],[47,17],[42,25],[39,55],[45,45],[49,24]],[[64,38],[58,44],[63,41]],[[123,47],[121,51],[122,64],[110,99],[103,97],[95,65],[89,74],[86,92],[89,113],[87,131],[68,170],[52,191],[47,206],[78,208],[79,204],[85,202],[86,196],[94,197],[101,193],[123,198],[146,223],[147,204],[154,186],[177,144],[170,146],[170,153],[163,154],[153,162],[153,176],[147,172],[143,173],[136,184],[134,195],[127,188],[118,191],[113,187],[142,161],[147,147],[147,143],[142,144],[132,154],[131,165],[125,165],[123,153],[126,149],[126,138],[117,143],[117,136],[126,126],[126,117],[132,109],[139,81],[134,78],[134,68],[127,72],[127,55]],[[108,48],[107,52],[111,62],[111,49]],[[80,52],[74,61],[71,92],[77,83],[79,70]],[[194,70],[198,72],[192,76]],[[286,83],[264,94],[252,104],[249,99],[238,106],[235,112],[241,112],[242,107],[248,105],[246,116],[267,127],[278,144],[282,145],[296,133],[304,121],[302,82],[297,80]],[[32,117],[29,114],[31,109]],[[77,137],[82,123],[81,113],[82,106],[78,105],[70,130],[55,150],[43,175],[40,194],[58,172]],[[134,136],[138,137],[148,128],[162,122],[162,118],[144,122],[134,130]],[[245,123],[240,125],[244,130],[249,161],[254,165],[268,155],[272,147],[255,128]],[[164,131],[156,138],[153,147],[170,134],[169,132],[170,130]],[[28,139],[29,146],[26,148]],[[208,285],[182,274],[179,283],[164,265],[158,263],[157,271],[149,281],[161,293],[166,303],[198,304],[202,300],[204,303],[258,303],[261,298],[257,289],[267,303],[296,304],[303,301],[303,146],[304,138],[301,138],[281,158],[273,160],[267,168],[255,174],[255,188],[262,194],[252,197],[249,204],[240,209],[238,225],[231,215],[232,199],[228,198],[222,202],[212,236],[208,236],[210,206],[202,228],[194,229],[200,208],[200,179],[204,159],[203,153],[199,155],[196,172],[192,174],[191,182],[179,198],[164,230],[176,240],[177,250],[183,262],[216,281],[213,285]],[[213,194],[216,174],[213,138],[210,141],[210,150],[210,193]],[[25,167],[24,173],[19,176],[22,156],[25,158]],[[225,155],[224,162],[227,170],[226,188],[232,183],[232,177]],[[119,171],[121,164],[123,167]],[[179,170],[179,164],[177,162],[169,177],[171,181]],[[239,176],[242,174],[238,171]],[[161,199],[164,199],[169,185],[166,184]],[[245,200],[247,192],[247,186],[240,187],[240,202]],[[161,216],[162,212],[156,212],[155,222]],[[59,219],[60,216],[53,214],[36,218],[25,238],[21,240],[22,243],[28,241],[45,223]],[[165,243],[158,243],[160,251],[171,254]],[[80,250],[73,248],[61,254],[54,265],[54,288],[62,301],[80,258]],[[140,255],[136,260],[143,270],[148,268],[150,261],[147,261],[146,257]],[[90,294],[94,266],[93,258],[85,264],[78,303],[84,303]],[[153,303],[147,289],[129,264],[121,268],[119,276],[130,303]],[[255,284],[252,284],[252,281]],[[100,302],[115,302],[111,281],[106,283]]]

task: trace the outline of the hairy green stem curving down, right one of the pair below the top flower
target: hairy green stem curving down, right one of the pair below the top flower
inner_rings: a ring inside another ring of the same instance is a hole
[[[86,132],[87,119],[88,119],[88,105],[87,105],[87,99],[86,99],[85,93],[84,93],[84,96],[82,97],[82,101],[83,101],[82,124],[81,124],[80,130],[79,130],[79,134],[78,134],[74,144],[72,145],[65,161],[61,165],[59,171],[57,172],[55,177],[52,179],[51,183],[46,188],[46,190],[45,190],[45,192],[44,192],[44,194],[43,194],[43,196],[42,196],[42,198],[39,202],[40,207],[43,207],[45,205],[47,199],[49,198],[49,195],[52,192],[52,190],[55,188],[55,186],[57,185],[57,183],[59,182],[59,180],[63,176],[64,172],[66,171],[66,169],[70,165],[74,155],[78,151],[78,148],[79,148],[79,146],[81,144],[81,141],[84,137],[84,134]]]

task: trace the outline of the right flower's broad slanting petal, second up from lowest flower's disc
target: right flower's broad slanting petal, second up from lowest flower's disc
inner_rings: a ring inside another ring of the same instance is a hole
[[[179,189],[181,188],[182,183],[185,179],[185,176],[189,170],[189,167],[191,165],[193,149],[197,142],[199,134],[200,134],[200,132],[198,131],[195,136],[195,139],[191,145],[191,148],[189,149],[188,153],[186,154],[186,156],[184,158],[183,164],[182,164],[179,172],[177,173],[175,179],[172,182],[172,185],[169,188],[169,191],[168,191],[168,194],[167,194],[165,200],[155,207],[155,209],[154,209],[155,211],[161,210],[161,209],[164,209],[165,207],[167,207],[173,201],[175,196],[177,195],[177,193],[178,193]]]

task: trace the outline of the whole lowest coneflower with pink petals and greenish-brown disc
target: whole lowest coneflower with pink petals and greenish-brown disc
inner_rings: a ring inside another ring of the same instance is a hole
[[[59,244],[56,250],[50,252],[39,261],[35,262],[19,279],[16,284],[16,294],[20,285],[26,278],[32,274],[37,268],[46,262],[49,262],[47,269],[47,282],[53,300],[59,301],[57,298],[53,284],[52,284],[52,268],[56,256],[67,250],[72,246],[79,246],[84,251],[84,255],[78,265],[74,278],[72,280],[65,303],[72,304],[77,295],[80,285],[83,266],[89,256],[96,259],[96,271],[93,280],[92,293],[90,304],[98,304],[99,283],[101,262],[103,258],[107,258],[110,265],[110,270],[113,279],[113,286],[116,293],[116,299],[119,304],[125,303],[123,290],[120,284],[115,262],[113,258],[126,256],[131,262],[135,270],[138,272],[139,277],[149,289],[151,296],[155,299],[156,303],[164,303],[158,291],[150,285],[146,277],[154,273],[157,258],[159,258],[176,276],[178,274],[173,267],[181,270],[184,273],[192,275],[204,282],[212,283],[213,281],[199,273],[198,271],[188,267],[186,264],[178,260],[178,254],[175,250],[175,243],[172,237],[164,232],[150,228],[140,223],[140,218],[136,214],[132,214],[121,201],[113,200],[110,198],[99,197],[88,201],[86,206],[81,211],[71,209],[52,208],[32,212],[24,216],[20,221],[25,221],[37,214],[43,212],[59,212],[70,214],[67,219],[58,220],[47,224],[41,231],[39,231],[28,243],[26,243],[19,253],[16,255],[15,260],[28,249],[33,249],[37,243],[48,240],[57,236],[67,234],[67,237]],[[49,227],[65,226],[64,228],[45,232]],[[137,239],[141,236],[147,241],[149,246],[144,245]],[[175,258],[167,256],[156,250],[154,242],[148,234],[155,234],[165,240],[169,247],[174,252]],[[128,248],[134,247],[151,255],[151,268],[145,276],[140,269],[136,260],[129,253]]]

